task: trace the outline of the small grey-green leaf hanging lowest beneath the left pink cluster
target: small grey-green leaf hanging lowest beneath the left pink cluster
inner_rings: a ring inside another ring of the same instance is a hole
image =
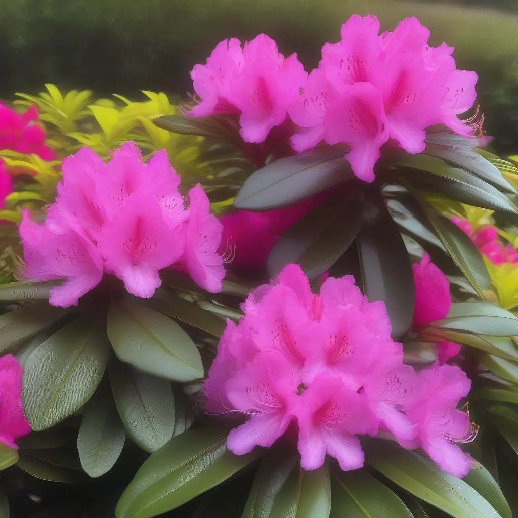
[[[77,436],[81,466],[90,477],[100,477],[117,462],[126,433],[106,383],[97,387],[84,407]]]

